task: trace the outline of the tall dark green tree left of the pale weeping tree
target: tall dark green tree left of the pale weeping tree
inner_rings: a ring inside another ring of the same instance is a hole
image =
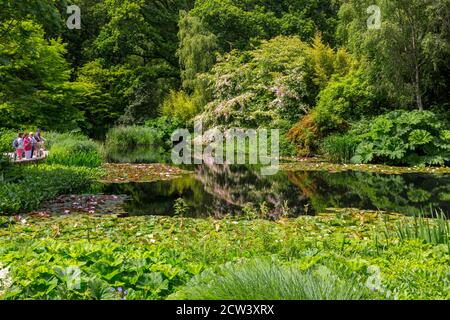
[[[86,48],[89,59],[96,63],[88,63],[82,69],[87,82],[98,83],[106,74],[114,78],[99,88],[111,92],[115,104],[111,110],[119,115],[116,120],[120,123],[143,123],[157,116],[164,97],[179,85],[176,57],[179,10],[189,9],[190,3],[189,0],[104,1],[105,24]],[[90,67],[94,72],[87,70]],[[100,78],[87,79],[90,76]]]

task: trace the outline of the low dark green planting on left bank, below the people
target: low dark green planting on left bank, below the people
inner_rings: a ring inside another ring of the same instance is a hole
[[[99,175],[83,167],[23,167],[17,181],[0,183],[0,214],[27,212],[60,194],[86,191]]]

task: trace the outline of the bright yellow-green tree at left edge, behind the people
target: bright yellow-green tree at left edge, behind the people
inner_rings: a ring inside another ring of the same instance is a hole
[[[82,120],[70,100],[70,68],[60,40],[19,21],[0,42],[0,126],[69,130]]]

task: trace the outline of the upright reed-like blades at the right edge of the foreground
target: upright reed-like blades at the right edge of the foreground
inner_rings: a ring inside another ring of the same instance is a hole
[[[386,228],[386,237],[397,237],[401,241],[422,240],[432,244],[450,245],[450,226],[442,210],[432,212],[430,218],[423,214],[398,221],[393,231]]]

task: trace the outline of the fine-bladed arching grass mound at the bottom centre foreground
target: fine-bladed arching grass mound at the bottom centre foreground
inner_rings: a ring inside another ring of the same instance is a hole
[[[268,259],[225,264],[204,271],[169,299],[192,300],[353,300],[370,291],[356,278],[339,277],[326,267],[302,271]]]

